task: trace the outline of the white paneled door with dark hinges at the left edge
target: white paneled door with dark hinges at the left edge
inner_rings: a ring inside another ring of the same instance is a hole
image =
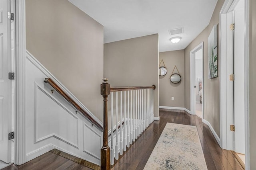
[[[11,162],[12,81],[11,72],[11,22],[8,19],[10,0],[0,0],[0,160]]]

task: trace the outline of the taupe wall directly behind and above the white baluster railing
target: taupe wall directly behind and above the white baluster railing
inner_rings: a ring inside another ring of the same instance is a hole
[[[104,44],[104,77],[111,86],[152,86],[159,116],[158,34]]]

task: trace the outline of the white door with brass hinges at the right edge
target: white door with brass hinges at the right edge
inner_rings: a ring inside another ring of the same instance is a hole
[[[245,69],[244,69],[244,0],[234,10],[234,125],[235,152],[245,154]]]

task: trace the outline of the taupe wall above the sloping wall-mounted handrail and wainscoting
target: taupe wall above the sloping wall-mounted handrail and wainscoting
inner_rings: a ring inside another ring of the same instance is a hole
[[[103,26],[68,0],[26,0],[26,48],[103,120]]]

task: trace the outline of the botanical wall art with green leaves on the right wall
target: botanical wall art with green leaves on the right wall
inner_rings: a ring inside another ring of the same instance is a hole
[[[209,79],[218,76],[218,56],[217,56],[217,25],[213,25],[208,37],[208,66]]]

